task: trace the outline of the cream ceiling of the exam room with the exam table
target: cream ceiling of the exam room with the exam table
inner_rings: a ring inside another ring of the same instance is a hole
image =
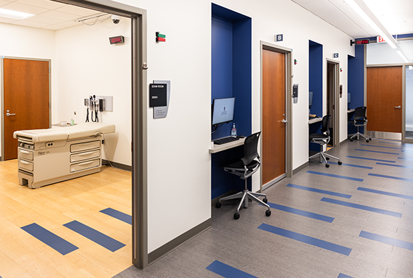
[[[17,20],[0,16],[1,23],[10,23],[28,27],[42,28],[48,30],[60,30],[67,27],[82,25],[75,21],[85,16],[102,14],[95,10],[66,5],[50,0],[0,0],[0,8],[18,12],[36,14],[28,19]],[[107,16],[103,17],[105,19]],[[99,19],[99,20],[102,20]],[[91,19],[87,23],[95,21]]]

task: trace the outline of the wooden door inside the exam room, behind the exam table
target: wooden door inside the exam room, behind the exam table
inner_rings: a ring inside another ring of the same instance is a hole
[[[14,131],[50,127],[49,62],[5,58],[3,86],[3,148],[8,160],[17,158]]]

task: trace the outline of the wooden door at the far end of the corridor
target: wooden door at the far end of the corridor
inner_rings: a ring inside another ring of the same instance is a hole
[[[402,67],[367,68],[367,129],[401,133]]]

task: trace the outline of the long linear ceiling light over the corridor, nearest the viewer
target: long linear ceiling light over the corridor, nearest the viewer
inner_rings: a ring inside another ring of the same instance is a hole
[[[376,31],[380,36],[382,36],[386,43],[388,43],[392,48],[397,48],[397,41],[388,32],[387,29],[381,24],[379,19],[373,14],[373,12],[368,8],[363,0],[344,0],[350,8],[357,12],[361,18],[370,25],[374,31]]]

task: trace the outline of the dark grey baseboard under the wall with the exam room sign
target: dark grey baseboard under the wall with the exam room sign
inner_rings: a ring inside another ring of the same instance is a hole
[[[193,227],[191,230],[187,231],[186,233],[183,233],[182,235],[178,236],[178,238],[175,238],[171,240],[170,242],[168,242],[167,244],[160,246],[158,249],[148,254],[148,264],[153,264],[153,262],[156,262],[161,257],[164,257],[165,255],[173,251],[175,248],[178,248],[180,245],[184,244],[188,240],[191,240],[191,238],[202,233],[203,231],[206,231],[210,227],[211,227],[211,218],[202,222],[198,226]]]

